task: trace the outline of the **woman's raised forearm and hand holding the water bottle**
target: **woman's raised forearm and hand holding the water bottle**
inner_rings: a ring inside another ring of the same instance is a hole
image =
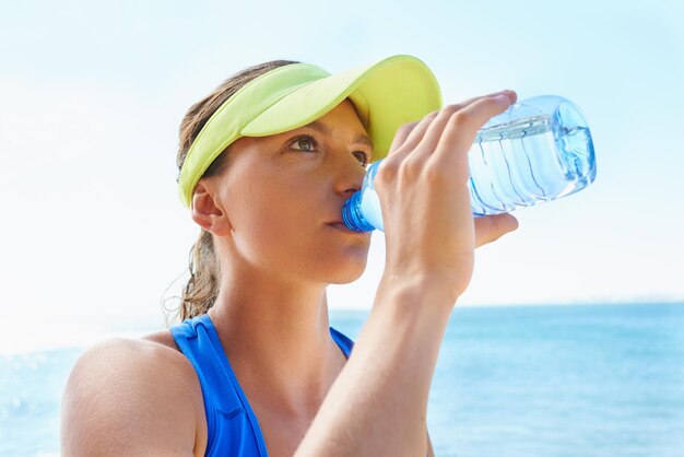
[[[515,98],[508,93],[447,106],[398,132],[375,180],[385,273],[297,457],[425,455],[429,385],[452,306],[472,274],[475,245],[517,226],[507,214],[473,221],[468,191],[468,151],[477,129]]]

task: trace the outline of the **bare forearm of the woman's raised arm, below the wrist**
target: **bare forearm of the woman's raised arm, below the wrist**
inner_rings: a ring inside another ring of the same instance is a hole
[[[425,455],[429,383],[451,309],[439,289],[426,280],[382,293],[296,456]]]

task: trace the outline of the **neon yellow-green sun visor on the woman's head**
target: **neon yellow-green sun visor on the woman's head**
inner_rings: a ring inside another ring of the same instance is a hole
[[[276,68],[240,87],[207,121],[180,169],[180,199],[190,207],[207,168],[238,138],[267,137],[306,126],[345,98],[354,104],[377,160],[387,155],[402,124],[441,107],[435,75],[411,56],[393,56],[332,75],[309,63]]]

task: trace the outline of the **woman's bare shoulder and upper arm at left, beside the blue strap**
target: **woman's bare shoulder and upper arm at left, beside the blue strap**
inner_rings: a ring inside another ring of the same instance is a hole
[[[201,398],[182,354],[142,340],[99,344],[79,359],[67,382],[61,455],[203,455],[196,446]]]

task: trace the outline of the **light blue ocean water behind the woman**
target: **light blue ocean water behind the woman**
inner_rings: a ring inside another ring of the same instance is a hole
[[[353,339],[366,316],[330,315]],[[59,455],[83,350],[0,356],[0,456]],[[427,424],[439,457],[684,457],[684,304],[457,307]]]

